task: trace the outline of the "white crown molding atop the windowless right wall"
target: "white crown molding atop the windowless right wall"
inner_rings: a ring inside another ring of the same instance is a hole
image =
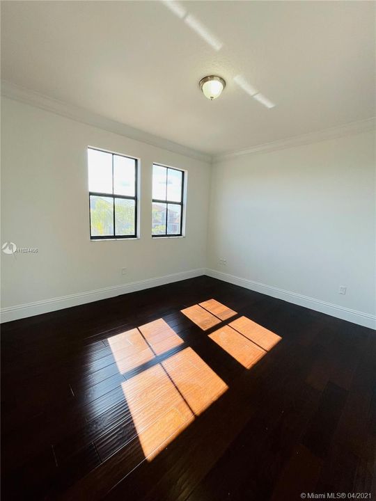
[[[293,148],[295,146],[319,143],[320,141],[325,141],[327,139],[350,136],[351,134],[359,134],[359,132],[368,132],[375,129],[376,118],[367,118],[366,120],[359,120],[357,122],[350,122],[338,127],[331,127],[330,129],[322,129],[318,132],[310,132],[309,134],[301,134],[301,136],[292,136],[290,138],[280,139],[279,141],[272,141],[271,143],[251,146],[251,148],[216,154],[212,157],[212,163],[234,159],[246,154],[272,152],[276,150],[284,150],[285,148]]]

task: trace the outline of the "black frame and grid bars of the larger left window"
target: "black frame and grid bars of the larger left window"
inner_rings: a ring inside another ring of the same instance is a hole
[[[89,190],[89,228],[90,228],[90,239],[91,240],[119,240],[119,239],[135,239],[138,238],[137,236],[137,216],[138,216],[138,209],[139,209],[139,197],[138,197],[138,186],[139,186],[139,159],[136,159],[134,157],[130,157],[129,155],[125,155],[122,153],[116,153],[116,152],[110,152],[107,150],[101,150],[100,148],[93,148],[93,146],[88,146],[88,150],[96,150],[100,151],[102,153],[108,153],[111,154],[111,163],[112,163],[112,193],[103,193],[100,191],[90,191]],[[134,160],[134,196],[129,196],[129,195],[116,195],[116,193],[113,193],[113,157],[124,157],[128,158],[131,160]],[[91,196],[102,196],[106,198],[112,198],[113,202],[113,235],[92,235],[91,234],[91,207],[90,207],[90,201],[91,201]],[[134,200],[134,234],[130,235],[118,235],[116,234],[116,224],[115,224],[115,199],[116,198],[124,198],[125,200]]]

